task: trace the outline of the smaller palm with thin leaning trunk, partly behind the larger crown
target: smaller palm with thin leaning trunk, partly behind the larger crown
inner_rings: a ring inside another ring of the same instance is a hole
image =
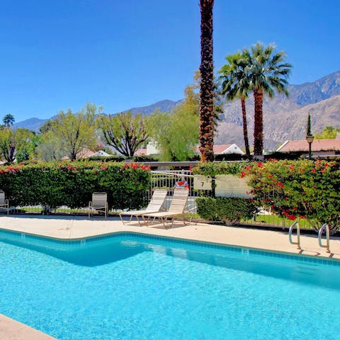
[[[244,147],[246,156],[250,157],[248,127],[246,123],[246,98],[249,93],[249,77],[246,74],[246,67],[249,66],[249,50],[237,52],[234,55],[228,55],[227,64],[220,69],[220,79],[222,79],[222,94],[227,100],[233,101],[235,98],[241,100]]]

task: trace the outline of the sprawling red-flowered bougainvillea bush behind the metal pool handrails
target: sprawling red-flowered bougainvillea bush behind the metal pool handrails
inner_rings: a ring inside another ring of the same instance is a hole
[[[333,232],[339,228],[339,161],[273,159],[248,164],[241,176],[250,176],[255,200],[277,215],[306,218],[315,229],[325,222]]]

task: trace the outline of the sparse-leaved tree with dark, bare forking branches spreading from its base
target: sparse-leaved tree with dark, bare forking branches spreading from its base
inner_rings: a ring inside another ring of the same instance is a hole
[[[117,115],[101,115],[98,127],[111,147],[120,154],[132,157],[136,150],[147,142],[147,118],[141,114],[132,115],[131,111]]]

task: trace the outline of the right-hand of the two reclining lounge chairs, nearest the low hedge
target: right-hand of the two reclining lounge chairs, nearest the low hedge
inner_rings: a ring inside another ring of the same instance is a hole
[[[149,225],[149,220],[153,217],[153,220],[157,219],[160,223],[163,223],[164,228],[166,228],[166,222],[171,219],[171,227],[174,225],[174,220],[176,217],[183,216],[183,224],[186,225],[186,217],[184,215],[184,209],[186,208],[186,203],[188,203],[189,189],[188,188],[175,188],[174,196],[172,197],[170,207],[168,211],[164,212],[151,212],[142,215],[143,220],[146,225]],[[189,221],[189,223],[191,220]]]

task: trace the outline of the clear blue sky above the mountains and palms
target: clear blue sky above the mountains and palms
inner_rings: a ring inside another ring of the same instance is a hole
[[[1,0],[0,118],[116,113],[183,98],[200,64],[199,0]],[[336,0],[215,0],[214,58],[275,42],[291,84],[340,69]]]

